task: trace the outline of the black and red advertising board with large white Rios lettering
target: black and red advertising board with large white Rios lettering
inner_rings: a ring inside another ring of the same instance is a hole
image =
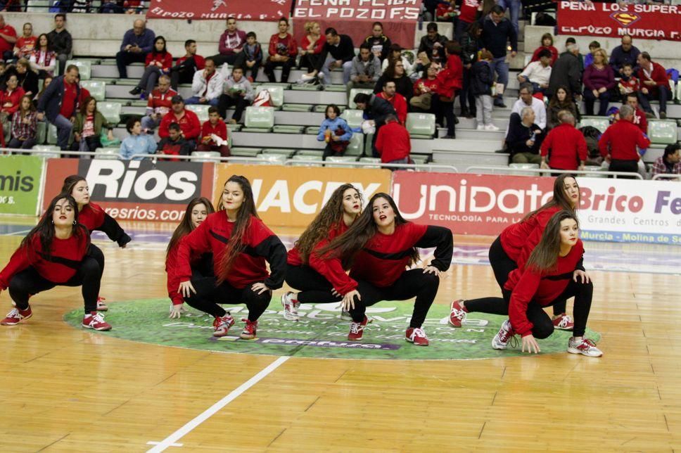
[[[61,191],[64,178],[87,179],[90,199],[119,220],[179,222],[189,200],[212,198],[212,163],[150,160],[50,159],[43,209]]]

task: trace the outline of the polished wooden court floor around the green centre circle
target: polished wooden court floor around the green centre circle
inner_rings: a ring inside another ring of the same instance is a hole
[[[151,235],[170,231],[158,224],[123,226]],[[2,265],[22,236],[0,236]],[[454,238],[455,245],[482,248],[491,241]],[[106,255],[101,295],[110,312],[117,301],[165,296],[163,245],[148,246],[140,235],[125,250],[96,243]],[[658,250],[586,244],[587,253],[609,247],[625,255]],[[0,449],[681,450],[678,273],[590,273],[589,326],[602,335],[601,359],[566,352],[479,360],[314,359],[150,345],[66,324],[64,314],[81,309],[82,299],[79,288],[57,288],[32,299],[34,315],[25,324],[0,327]],[[489,267],[455,264],[437,303],[497,292]],[[0,310],[10,309],[4,292]]]

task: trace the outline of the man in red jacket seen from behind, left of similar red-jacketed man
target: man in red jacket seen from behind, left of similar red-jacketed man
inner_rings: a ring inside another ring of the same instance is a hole
[[[561,124],[551,129],[542,143],[541,167],[554,170],[584,170],[587,141],[579,129],[575,128],[575,116],[568,110],[561,110],[558,119]]]

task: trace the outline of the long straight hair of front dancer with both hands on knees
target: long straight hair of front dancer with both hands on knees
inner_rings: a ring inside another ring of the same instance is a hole
[[[227,183],[229,182],[235,182],[241,187],[241,190],[243,191],[243,203],[236,213],[234,229],[232,229],[229,241],[227,241],[227,245],[225,246],[227,251],[222,255],[220,274],[217,278],[218,284],[222,283],[227,278],[227,274],[229,274],[231,266],[234,264],[234,260],[236,260],[238,254],[246,248],[246,244],[243,243],[243,236],[246,235],[246,229],[248,229],[248,226],[250,225],[250,218],[260,218],[257,216],[257,211],[255,210],[255,200],[253,199],[253,189],[250,187],[250,181],[248,181],[245,176],[232,174],[231,177],[225,181],[224,185],[227,186]],[[217,210],[224,211],[222,195],[217,203]],[[227,215],[227,212],[225,212],[224,215]]]

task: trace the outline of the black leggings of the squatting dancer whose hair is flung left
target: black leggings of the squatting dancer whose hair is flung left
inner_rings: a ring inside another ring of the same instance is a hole
[[[438,294],[440,278],[433,274],[424,274],[424,269],[411,269],[400,275],[392,286],[379,288],[367,281],[357,280],[357,291],[362,300],[355,296],[355,308],[350,310],[352,321],[362,322],[367,307],[381,300],[407,300],[416,296],[414,312],[409,327],[421,327],[426,320],[435,295]]]

